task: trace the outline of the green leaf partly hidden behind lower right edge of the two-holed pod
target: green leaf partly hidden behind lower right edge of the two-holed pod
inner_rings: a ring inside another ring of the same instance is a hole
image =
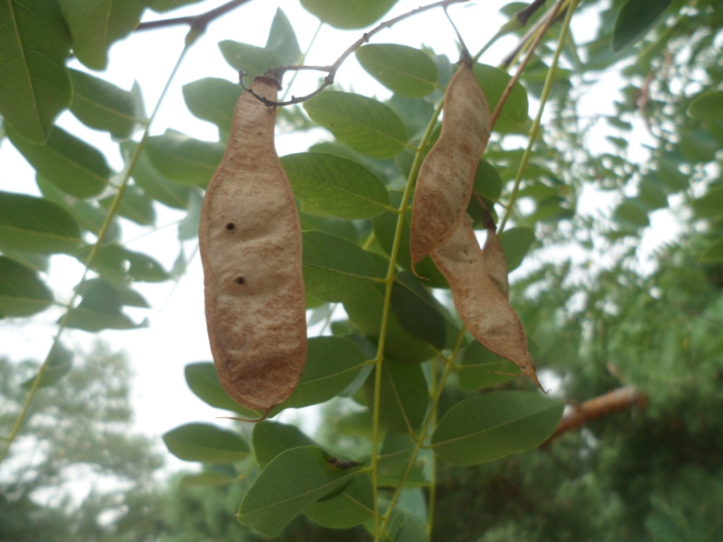
[[[359,345],[343,337],[312,337],[296,390],[273,412],[324,403],[346,390],[364,367]],[[273,413],[271,414],[273,416]]]

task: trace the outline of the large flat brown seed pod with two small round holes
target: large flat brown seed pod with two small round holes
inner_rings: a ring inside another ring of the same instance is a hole
[[[265,74],[251,88],[276,100],[279,81]],[[274,147],[275,116],[251,93],[239,98],[198,233],[218,377],[265,415],[294,391],[307,353],[301,225]]]

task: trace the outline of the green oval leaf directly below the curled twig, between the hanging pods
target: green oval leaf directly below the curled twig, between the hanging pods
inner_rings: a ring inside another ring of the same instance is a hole
[[[304,109],[336,139],[372,158],[394,158],[406,148],[403,122],[388,106],[359,94],[327,91]]]

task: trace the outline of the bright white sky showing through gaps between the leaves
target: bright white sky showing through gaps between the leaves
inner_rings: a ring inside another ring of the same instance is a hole
[[[466,15],[471,5],[475,5],[479,10],[478,2],[450,7],[450,15],[471,51],[478,51],[504,22],[498,10],[506,3],[503,0],[481,2],[489,14],[484,21],[473,20]],[[221,4],[223,1],[205,2],[162,15],[148,12],[144,20],[197,14]],[[408,12],[419,5],[419,0],[401,0],[385,19]],[[268,29],[278,7],[281,7],[291,20],[301,50],[307,50],[317,30],[318,21],[301,9],[298,1],[251,1],[226,14],[208,27],[205,35],[187,54],[152,126],[153,134],[161,134],[167,128],[173,128],[198,139],[218,139],[215,126],[194,118],[187,111],[181,87],[187,82],[204,77],[223,77],[236,81],[237,74],[223,60],[218,42],[229,39],[264,46]],[[578,26],[581,27],[584,25]],[[306,63],[331,64],[361,36],[361,32],[362,30],[338,31],[322,27],[309,49]],[[127,40],[118,42],[111,48],[108,71],[100,74],[101,77],[127,90],[134,80],[139,82],[146,109],[150,113],[179,56],[186,33],[186,27],[168,27],[134,33]],[[439,9],[412,17],[390,30],[384,30],[377,34],[372,42],[425,45],[437,53],[447,54],[453,61],[458,57],[455,34]],[[482,57],[482,61],[486,64],[498,64],[515,43],[515,38],[501,40]],[[82,69],[77,62],[72,62],[72,66]],[[299,78],[299,85],[294,86],[290,92],[294,95],[309,93],[313,90],[317,77],[318,74],[314,74],[306,81]],[[359,68],[354,56],[343,64],[335,80],[337,87],[347,90],[380,97],[388,95],[387,90]],[[603,107],[609,107],[606,112],[612,111],[612,104]],[[536,111],[531,108],[530,113],[534,116]],[[111,166],[116,170],[121,168],[117,146],[106,134],[87,129],[70,113],[64,113],[59,124],[90,142],[91,145],[108,151]],[[278,154],[285,155],[306,150],[320,137],[325,137],[325,132],[317,131],[304,134],[302,137],[280,135],[277,140]],[[7,141],[0,146],[0,163],[3,165],[0,171],[0,190],[38,194],[33,169]],[[178,256],[176,222],[181,218],[183,218],[182,213],[159,205],[158,230],[148,233],[124,220],[122,223],[124,240],[127,241],[129,249],[147,252],[157,258],[166,269],[170,269]],[[137,322],[147,318],[150,327],[122,332],[106,331],[99,335],[111,343],[113,348],[122,349],[129,356],[134,371],[132,401],[136,410],[137,427],[149,436],[160,436],[181,423],[191,421],[223,423],[215,421],[214,417],[226,415],[225,411],[210,408],[197,399],[184,380],[186,364],[211,359],[205,329],[202,272],[200,259],[194,252],[195,246],[195,240],[185,245],[187,256],[194,254],[194,257],[189,264],[187,274],[178,283],[134,285],[134,288],[146,296],[153,308],[128,309],[127,312]],[[76,260],[64,256],[53,258],[50,282],[61,301],[67,300],[72,287],[77,284],[81,275],[82,266]],[[25,322],[23,319],[4,322],[0,326],[0,354],[15,360],[45,358],[56,332],[54,322],[59,314],[61,314],[60,309],[51,309],[33,319],[33,323]],[[95,337],[94,334],[67,330],[63,342],[70,347],[88,345]],[[291,416],[293,417],[293,413]],[[160,446],[160,439],[158,443]]]

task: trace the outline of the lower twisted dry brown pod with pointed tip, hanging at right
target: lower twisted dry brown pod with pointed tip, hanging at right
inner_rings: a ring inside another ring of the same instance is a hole
[[[461,220],[447,241],[432,250],[432,259],[450,284],[457,312],[472,336],[498,356],[512,361],[542,390],[527,351],[525,330],[487,275],[484,254],[469,217]]]

